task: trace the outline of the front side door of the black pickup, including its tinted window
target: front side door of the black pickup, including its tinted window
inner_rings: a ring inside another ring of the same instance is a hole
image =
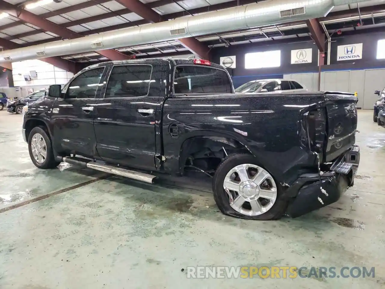
[[[87,69],[62,90],[52,108],[54,147],[58,153],[97,156],[94,106],[105,85],[106,67]]]

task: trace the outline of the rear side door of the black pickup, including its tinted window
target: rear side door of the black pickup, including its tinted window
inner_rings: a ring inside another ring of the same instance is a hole
[[[111,163],[154,170],[156,109],[161,89],[160,64],[140,61],[114,65],[95,106],[95,135],[100,157]],[[103,97],[104,96],[104,97]]]

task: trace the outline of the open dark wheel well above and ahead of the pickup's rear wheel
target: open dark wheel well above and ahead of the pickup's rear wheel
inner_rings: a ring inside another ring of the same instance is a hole
[[[184,141],[179,157],[179,170],[205,172],[214,175],[216,168],[232,153],[251,152],[239,141],[218,136],[199,136]]]

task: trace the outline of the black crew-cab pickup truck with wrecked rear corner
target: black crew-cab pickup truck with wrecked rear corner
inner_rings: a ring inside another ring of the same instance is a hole
[[[200,171],[223,213],[271,220],[336,202],[353,185],[356,102],[235,94],[226,69],[207,60],[105,62],[25,106],[23,138],[42,169],[65,161],[148,183]]]

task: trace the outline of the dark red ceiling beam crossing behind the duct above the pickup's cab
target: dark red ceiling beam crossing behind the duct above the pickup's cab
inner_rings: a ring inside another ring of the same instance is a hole
[[[162,17],[157,12],[147,7],[146,4],[144,4],[139,0],[116,0],[116,1],[151,23],[158,23],[158,22],[167,20],[167,18]],[[188,38],[177,39],[177,40],[184,47],[189,49],[191,52],[193,52],[194,54],[197,54],[200,58],[209,59],[209,51],[210,51],[209,48],[206,45],[199,42],[199,40],[197,40],[196,38],[188,37]]]

